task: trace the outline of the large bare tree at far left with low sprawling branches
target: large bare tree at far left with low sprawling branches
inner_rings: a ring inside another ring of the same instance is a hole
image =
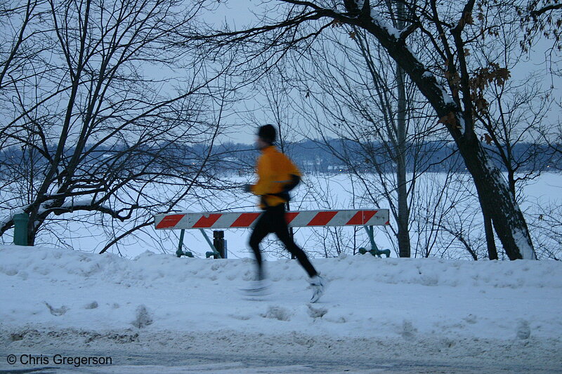
[[[195,187],[217,187],[213,146],[232,99],[219,77],[228,62],[207,63],[176,41],[204,5],[49,0],[37,6],[40,23],[27,21],[32,6],[13,10],[20,36],[0,91],[1,110],[10,113],[1,144],[13,155],[3,160],[10,182],[2,206],[11,213],[0,234],[19,211],[30,215],[30,244],[60,215],[135,220],[105,251]],[[38,34],[41,48],[31,37]]]

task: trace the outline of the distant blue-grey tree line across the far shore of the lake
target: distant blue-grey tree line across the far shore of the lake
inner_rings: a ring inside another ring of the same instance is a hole
[[[287,152],[291,154],[292,159],[307,173],[341,173],[348,172],[351,168],[360,173],[372,173],[371,165],[373,163],[379,164],[379,170],[384,173],[393,173],[396,170],[393,160],[388,159],[388,156],[384,153],[384,144],[369,143],[368,147],[374,149],[374,152],[373,154],[365,154],[365,143],[367,142],[358,145],[351,140],[332,139],[327,142],[327,145],[322,145],[319,140],[302,140],[288,143],[285,147],[287,147]],[[408,145],[407,148],[412,149]],[[486,148],[493,154],[494,147],[488,146]],[[342,154],[344,149],[348,154],[348,159],[342,161],[336,155]],[[377,149],[380,152],[376,152]],[[113,158],[115,154],[124,154],[126,150],[126,145],[96,147],[95,151],[90,152],[84,158],[84,163],[93,166],[100,163],[100,160],[108,157]],[[65,150],[67,155],[72,155],[73,152],[75,152],[73,148]],[[450,142],[427,142],[423,145],[417,145],[416,152],[425,155],[421,157],[423,164],[421,166],[416,165],[413,162],[414,154],[406,152],[405,170],[408,173],[419,167],[431,173],[466,173],[464,166],[452,160],[451,156],[455,154],[456,149]],[[130,153],[127,166],[129,172],[150,165],[151,171],[164,173],[169,171],[169,164],[162,163],[162,159],[171,158],[182,159],[183,163],[176,167],[178,173],[180,171],[185,172],[200,162],[200,155],[210,154],[214,161],[209,163],[207,172],[210,173],[215,170],[215,173],[226,172],[239,175],[253,172],[253,162],[258,155],[256,149],[251,146],[232,142],[214,145],[212,149],[207,145],[185,145],[181,143],[156,144],[152,147],[141,145]],[[521,160],[517,169],[518,173],[556,172],[561,170],[560,156],[557,152],[553,152],[552,145],[519,142],[512,149],[512,154],[515,159]],[[10,163],[19,165],[26,160],[26,156],[25,150],[18,147],[9,147],[0,151],[0,163],[5,166]],[[497,159],[497,156],[492,157],[492,159]],[[507,167],[499,159],[496,163],[501,171],[507,171]],[[0,168],[0,173],[6,173],[7,170],[8,168]]]

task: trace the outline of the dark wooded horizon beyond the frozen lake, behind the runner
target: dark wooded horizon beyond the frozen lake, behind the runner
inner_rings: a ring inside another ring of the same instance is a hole
[[[54,147],[54,146],[53,146]],[[104,153],[122,152],[126,149],[126,145],[119,147],[97,147],[96,152],[92,154],[92,160],[99,161],[98,156]],[[173,156],[192,158],[197,154],[207,154],[208,145],[195,145],[186,147],[185,145],[176,145],[167,143],[158,147],[166,147],[166,153]],[[341,173],[347,171],[355,171],[360,173],[374,173],[376,163],[379,171],[392,173],[396,170],[395,163],[392,159],[382,151],[384,143],[367,142],[357,143],[352,140],[331,139],[327,141],[319,140],[301,140],[299,142],[285,142],[283,149],[296,162],[299,168],[306,172],[319,173]],[[491,145],[487,147],[488,152],[495,160],[497,167],[502,171],[506,171],[504,164],[497,161],[497,155],[494,153],[495,147]],[[407,154],[407,171],[413,171],[414,153],[416,152],[416,161],[421,162],[424,166],[423,170],[428,172],[459,172],[464,173],[465,168],[462,161],[459,161],[455,145],[452,142],[436,140],[433,142],[424,142],[422,144],[412,144]],[[521,161],[519,172],[528,173],[530,171],[559,171],[561,169],[561,160],[553,155],[549,145],[541,145],[530,142],[518,142],[513,147],[514,159]],[[145,149],[137,149],[139,161],[143,161],[146,157],[154,154],[154,146]],[[67,149],[68,154],[72,154],[73,149]],[[20,147],[8,147],[0,151],[0,168],[2,163],[20,163],[26,154],[25,149]],[[259,151],[254,145],[248,145],[240,142],[223,142],[220,145],[214,145],[214,165],[223,171],[251,171],[254,159],[258,156]],[[40,160],[35,162],[41,163]]]

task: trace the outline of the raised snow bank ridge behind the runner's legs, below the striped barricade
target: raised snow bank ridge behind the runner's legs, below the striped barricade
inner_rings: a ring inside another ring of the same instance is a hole
[[[126,287],[155,287],[185,281],[249,281],[249,258],[211,260],[176,258],[146,251],[133,260],[111,253],[97,255],[64,249],[0,246],[0,276],[18,281],[72,282],[87,286],[112,283]],[[562,264],[556,261],[462,261],[375,258],[372,255],[341,255],[315,259],[332,281],[485,288],[562,288]],[[306,279],[293,260],[268,262],[273,281]],[[243,269],[241,269],[241,267]],[[287,271],[289,270],[289,271]],[[31,279],[30,279],[31,278]],[[227,288],[235,288],[232,285]]]

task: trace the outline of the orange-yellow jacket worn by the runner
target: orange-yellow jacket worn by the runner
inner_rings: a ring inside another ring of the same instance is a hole
[[[294,166],[289,157],[279,152],[279,149],[273,145],[261,149],[261,156],[256,164],[256,173],[258,182],[250,186],[250,191],[261,196],[261,208],[278,206],[289,201],[288,195],[275,194],[280,194],[287,185],[291,184],[292,175],[301,177],[299,168]]]

